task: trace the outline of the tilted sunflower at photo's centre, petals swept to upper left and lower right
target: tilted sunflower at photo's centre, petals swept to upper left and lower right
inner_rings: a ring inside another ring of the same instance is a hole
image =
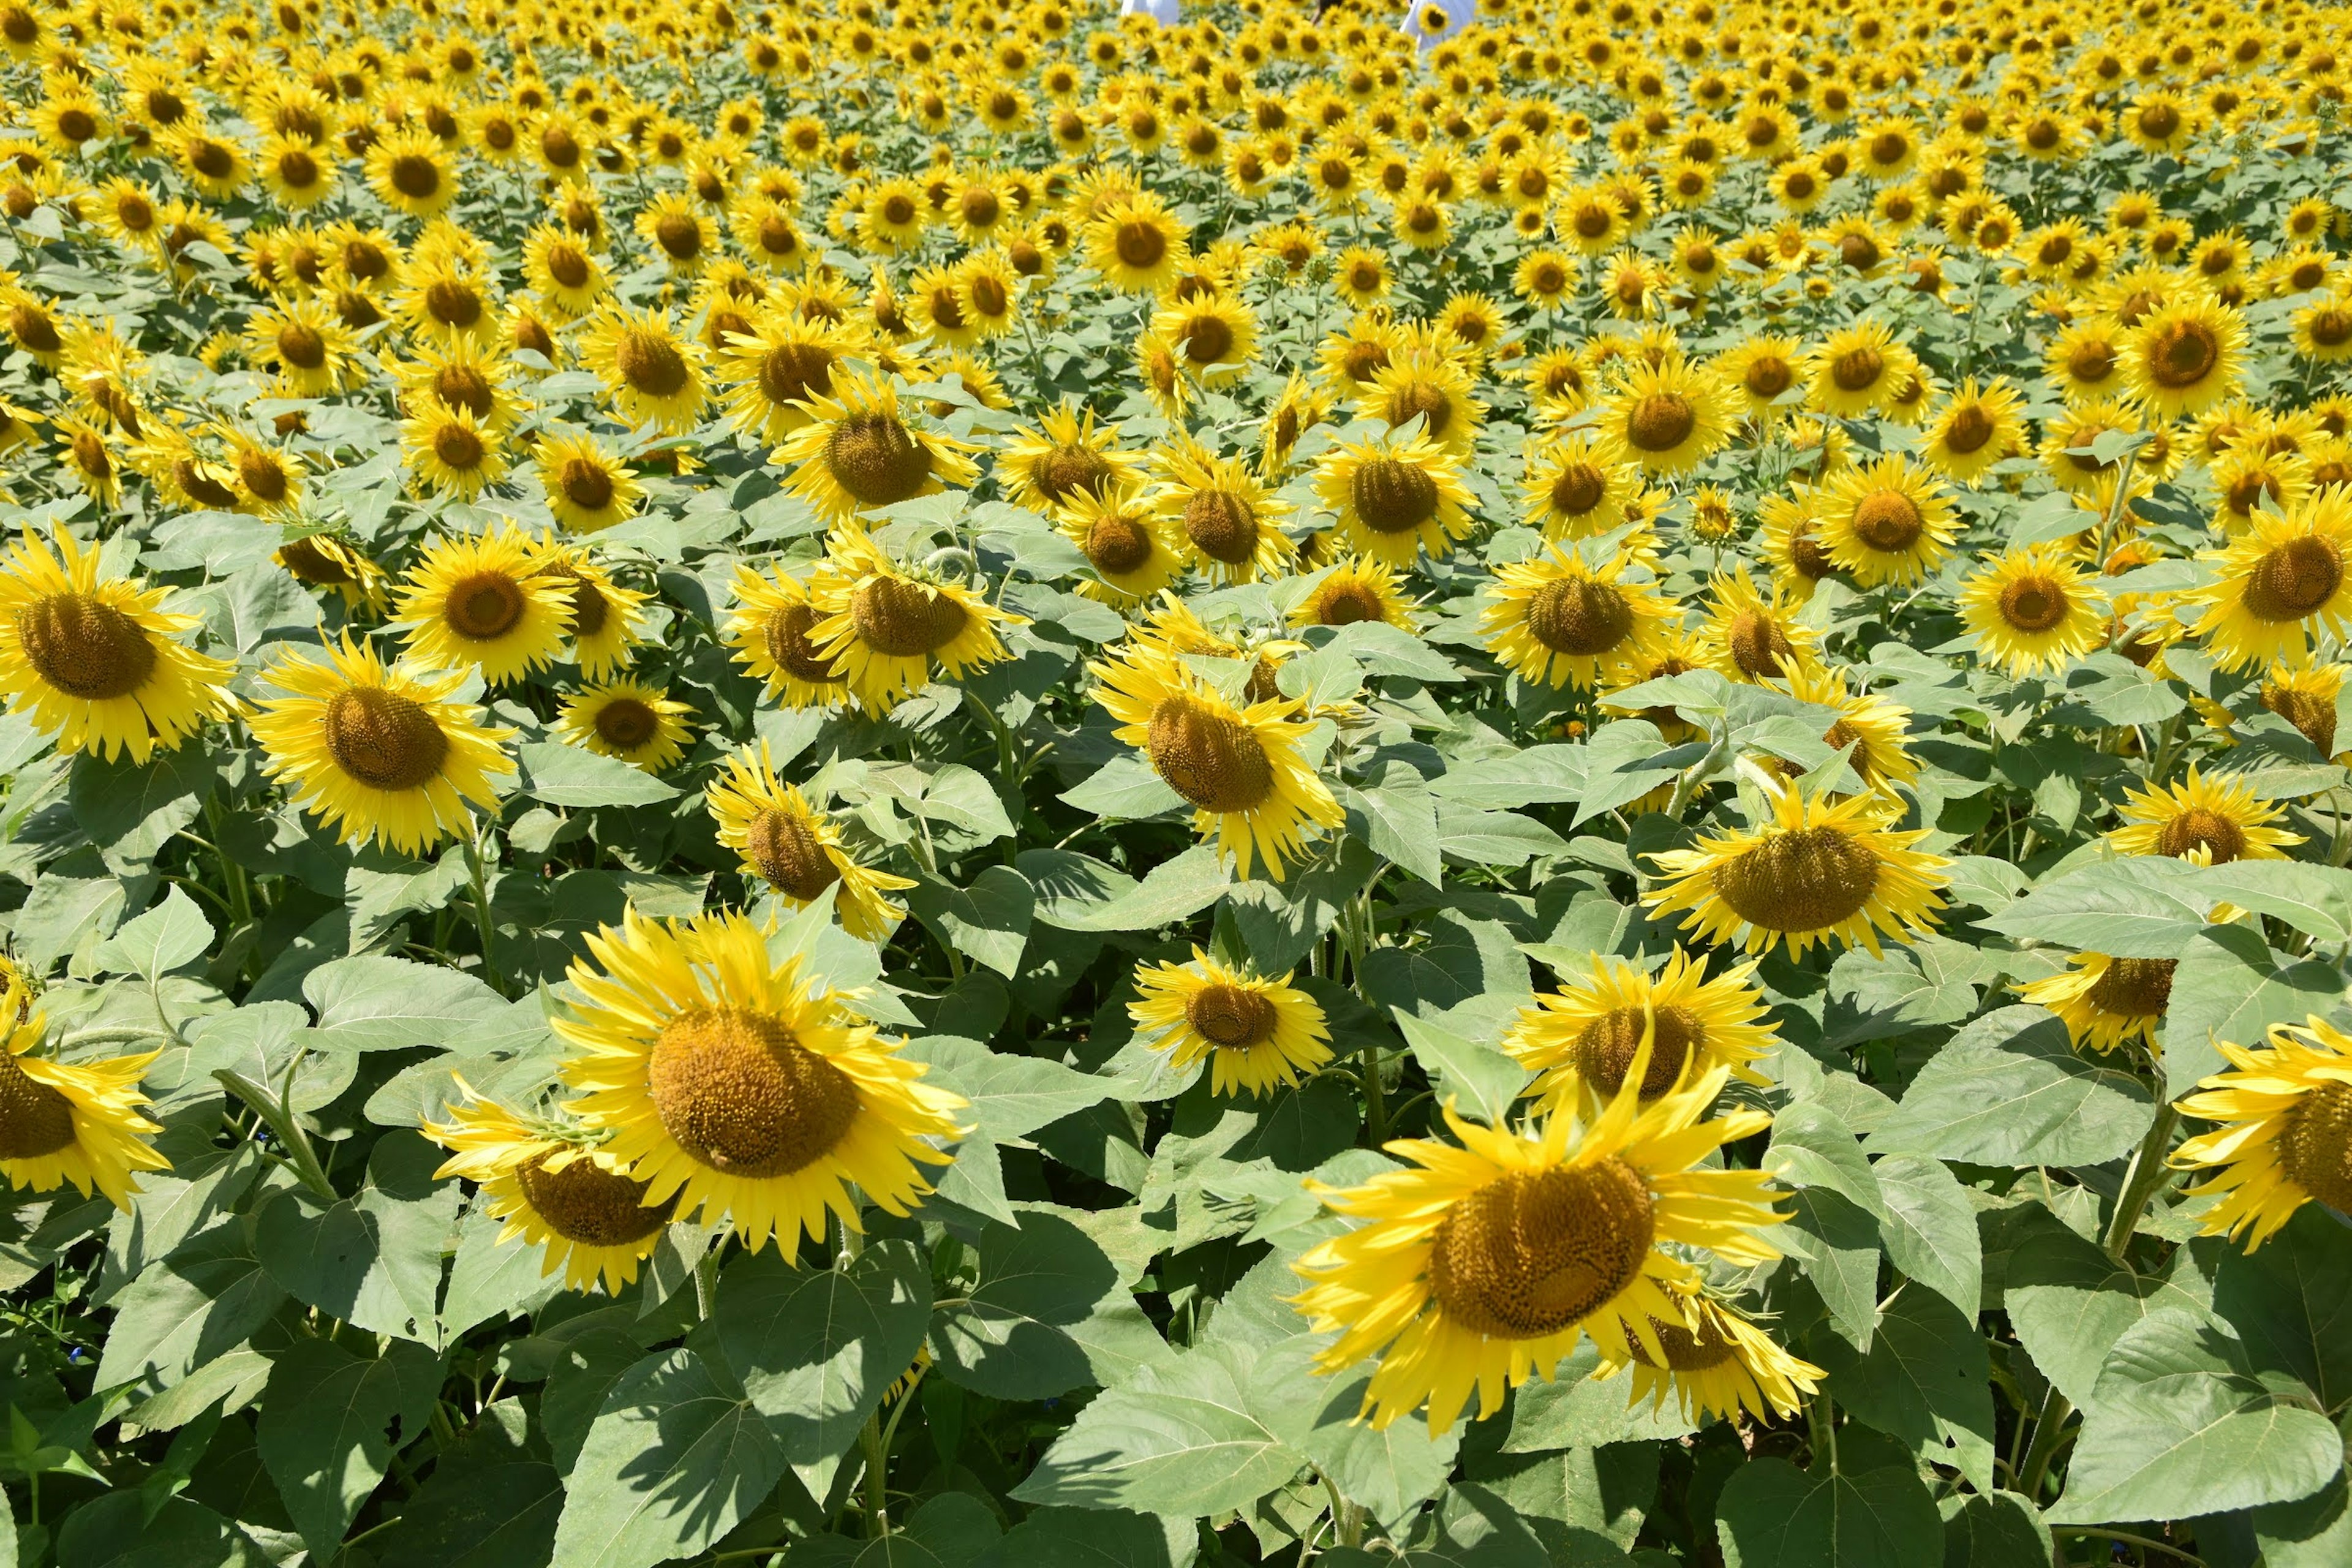
[[[1268,698],[1240,708],[1174,654],[1129,649],[1096,663],[1094,701],[1120,722],[1112,733],[1138,748],[1152,771],[1192,804],[1192,830],[1216,832],[1247,882],[1256,860],[1282,882],[1305,830],[1336,830],[1345,816],[1315,773],[1294,722],[1301,703]]]

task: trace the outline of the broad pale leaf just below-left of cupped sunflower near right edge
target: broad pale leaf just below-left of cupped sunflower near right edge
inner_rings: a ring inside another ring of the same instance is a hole
[[[1872,1154],[1980,1166],[2096,1166],[2136,1147],[2147,1088],[2074,1053],[2037,1006],[2004,1006],[1955,1034],[1870,1133]]]

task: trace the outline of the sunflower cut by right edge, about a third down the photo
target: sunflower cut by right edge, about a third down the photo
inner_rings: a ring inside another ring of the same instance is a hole
[[[2352,498],[2343,487],[2284,517],[2258,512],[2241,536],[2199,559],[2216,578],[2187,595],[2187,609],[2223,670],[2300,658],[2314,637],[2343,637],[2352,621]]]

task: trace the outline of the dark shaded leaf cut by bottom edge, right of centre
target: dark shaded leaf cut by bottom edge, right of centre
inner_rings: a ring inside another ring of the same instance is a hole
[[[1936,1500],[1907,1465],[1858,1476],[1750,1460],[1715,1505],[1724,1568],[1933,1568]]]

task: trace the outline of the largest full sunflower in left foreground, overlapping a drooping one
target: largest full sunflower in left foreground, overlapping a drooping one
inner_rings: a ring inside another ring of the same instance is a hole
[[[967,1135],[962,1095],[851,1013],[854,997],[771,959],[741,914],[654,924],[635,910],[588,938],[581,999],[555,1032],[581,1119],[647,1182],[644,1199],[731,1220],[790,1260],[828,1211],[863,1229],[851,1185],[891,1215],[924,1197],[924,1164]]]

